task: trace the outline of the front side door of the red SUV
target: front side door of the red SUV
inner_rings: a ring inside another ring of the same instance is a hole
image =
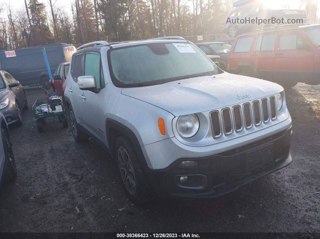
[[[275,52],[276,81],[304,82],[310,72],[313,72],[313,51],[304,37],[297,30],[280,32]]]

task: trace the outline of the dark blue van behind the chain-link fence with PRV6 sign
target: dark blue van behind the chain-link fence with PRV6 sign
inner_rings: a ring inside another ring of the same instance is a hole
[[[53,75],[57,65],[69,62],[76,48],[67,43],[21,48],[0,52],[0,70],[8,71],[22,86],[49,83],[42,49],[45,49]]]

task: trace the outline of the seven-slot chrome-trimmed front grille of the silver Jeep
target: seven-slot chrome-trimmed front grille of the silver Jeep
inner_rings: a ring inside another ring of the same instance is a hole
[[[276,99],[271,96],[267,98],[245,102],[242,105],[214,110],[210,112],[213,138],[219,138],[222,134],[229,135],[233,131],[240,132],[259,126],[261,123],[268,123],[269,119],[275,120]]]

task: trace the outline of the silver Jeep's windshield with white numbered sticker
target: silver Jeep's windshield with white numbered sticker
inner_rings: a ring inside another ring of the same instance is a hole
[[[108,51],[116,86],[146,86],[218,74],[217,66],[188,43],[148,43]]]

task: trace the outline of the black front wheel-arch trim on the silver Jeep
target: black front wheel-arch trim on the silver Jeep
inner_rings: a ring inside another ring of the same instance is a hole
[[[114,130],[118,131],[121,135],[127,137],[131,141],[131,143],[137,153],[139,160],[141,162],[147,164],[146,159],[143,155],[139,140],[138,140],[137,136],[134,134],[134,132],[131,129],[129,129],[127,126],[125,126],[124,124],[119,123],[116,120],[107,118],[106,119],[106,134],[107,134],[107,140],[108,140],[108,150],[112,156],[115,157],[114,147],[112,144],[113,143],[112,142],[112,135],[110,134],[111,129],[114,129]]]

